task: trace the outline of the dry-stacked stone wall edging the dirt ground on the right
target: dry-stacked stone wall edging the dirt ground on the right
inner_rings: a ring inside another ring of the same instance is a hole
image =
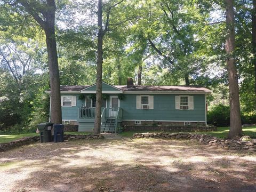
[[[212,135],[193,133],[134,133],[133,138],[189,139],[190,141],[199,141],[209,146],[256,151],[256,139],[250,139],[248,136],[244,136],[241,139],[219,139]],[[243,139],[249,141],[244,141]]]

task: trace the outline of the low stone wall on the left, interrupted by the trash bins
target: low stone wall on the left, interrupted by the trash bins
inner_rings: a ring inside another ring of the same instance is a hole
[[[103,139],[104,136],[98,135],[64,135],[64,140],[75,140],[75,139]],[[23,145],[29,145],[40,141],[39,136],[25,137],[8,143],[0,143],[0,152],[10,150]]]

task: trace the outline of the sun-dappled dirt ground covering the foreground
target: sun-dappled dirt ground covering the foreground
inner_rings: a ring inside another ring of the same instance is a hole
[[[256,155],[187,140],[35,143],[0,153],[0,191],[256,191]]]

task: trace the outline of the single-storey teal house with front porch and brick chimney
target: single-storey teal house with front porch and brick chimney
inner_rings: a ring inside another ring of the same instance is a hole
[[[96,84],[61,86],[62,121],[93,131]],[[199,86],[110,85],[102,82],[101,131],[124,125],[206,125],[206,94]]]

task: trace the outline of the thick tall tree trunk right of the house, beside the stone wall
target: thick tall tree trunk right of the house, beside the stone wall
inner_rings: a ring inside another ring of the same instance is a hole
[[[226,53],[228,67],[228,82],[229,82],[229,102],[230,102],[230,130],[229,138],[241,137],[242,124],[239,105],[239,88],[238,76],[235,66],[235,18],[233,0],[226,0]]]

